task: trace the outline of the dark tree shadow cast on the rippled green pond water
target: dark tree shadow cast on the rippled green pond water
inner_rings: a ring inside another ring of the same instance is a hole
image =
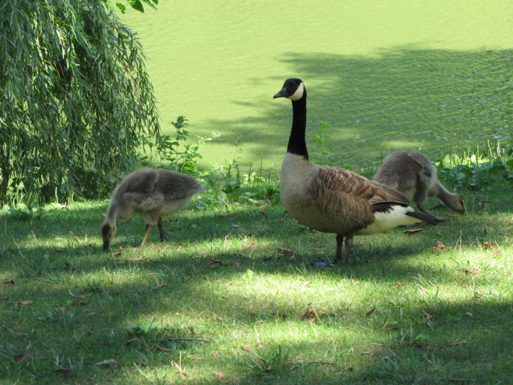
[[[331,123],[326,133],[333,157],[364,167],[399,149],[420,148],[437,159],[450,147],[463,151],[489,139],[509,143],[512,59],[513,50],[399,47],[374,56],[285,53],[278,60],[290,65],[286,77],[301,78],[308,89],[307,139],[318,121]],[[269,99],[254,105],[252,116],[211,122],[223,127],[211,145],[238,142],[245,163],[280,162],[292,109],[288,101],[271,98],[284,80],[264,80],[272,87]]]

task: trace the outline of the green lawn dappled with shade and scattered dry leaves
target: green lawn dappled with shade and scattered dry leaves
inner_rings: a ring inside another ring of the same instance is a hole
[[[155,229],[136,248],[144,222],[134,217],[108,253],[108,201],[4,214],[0,378],[509,383],[510,194],[466,191],[467,216],[356,237],[349,265],[333,268],[309,264],[331,257],[333,235],[298,225],[280,204],[205,205],[212,192],[165,223],[171,242]]]

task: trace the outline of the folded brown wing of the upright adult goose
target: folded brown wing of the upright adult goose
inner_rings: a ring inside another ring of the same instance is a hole
[[[327,190],[364,199],[372,205],[410,203],[401,192],[343,168],[319,167],[318,179]]]

